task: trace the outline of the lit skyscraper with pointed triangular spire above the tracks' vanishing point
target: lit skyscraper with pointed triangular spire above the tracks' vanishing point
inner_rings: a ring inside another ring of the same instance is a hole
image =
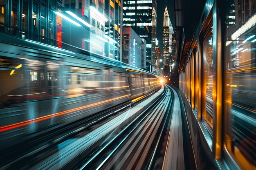
[[[164,31],[163,31],[163,51],[164,51],[164,65],[169,64],[170,55],[172,52],[172,33],[173,26],[171,24],[171,20],[168,14],[167,7],[165,7],[164,11]]]

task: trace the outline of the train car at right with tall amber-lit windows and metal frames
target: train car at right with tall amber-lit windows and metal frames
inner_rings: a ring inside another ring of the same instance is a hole
[[[184,56],[179,89],[199,170],[256,170],[255,5],[207,0]]]

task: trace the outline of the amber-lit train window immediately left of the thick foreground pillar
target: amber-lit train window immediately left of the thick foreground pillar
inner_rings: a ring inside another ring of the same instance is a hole
[[[213,27],[211,27],[203,41],[204,51],[204,109],[202,112],[203,122],[212,135],[213,128],[213,85],[216,82],[213,73]]]

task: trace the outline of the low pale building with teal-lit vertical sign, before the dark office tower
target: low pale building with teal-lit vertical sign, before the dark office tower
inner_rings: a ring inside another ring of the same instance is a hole
[[[123,28],[122,39],[122,62],[141,68],[143,41],[131,27]]]

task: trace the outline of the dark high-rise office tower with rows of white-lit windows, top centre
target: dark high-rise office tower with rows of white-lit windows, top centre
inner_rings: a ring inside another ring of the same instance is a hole
[[[148,71],[153,68],[149,64],[151,64],[152,9],[154,7],[156,10],[156,0],[124,0],[123,3],[123,27],[131,27],[147,42],[146,69]]]

